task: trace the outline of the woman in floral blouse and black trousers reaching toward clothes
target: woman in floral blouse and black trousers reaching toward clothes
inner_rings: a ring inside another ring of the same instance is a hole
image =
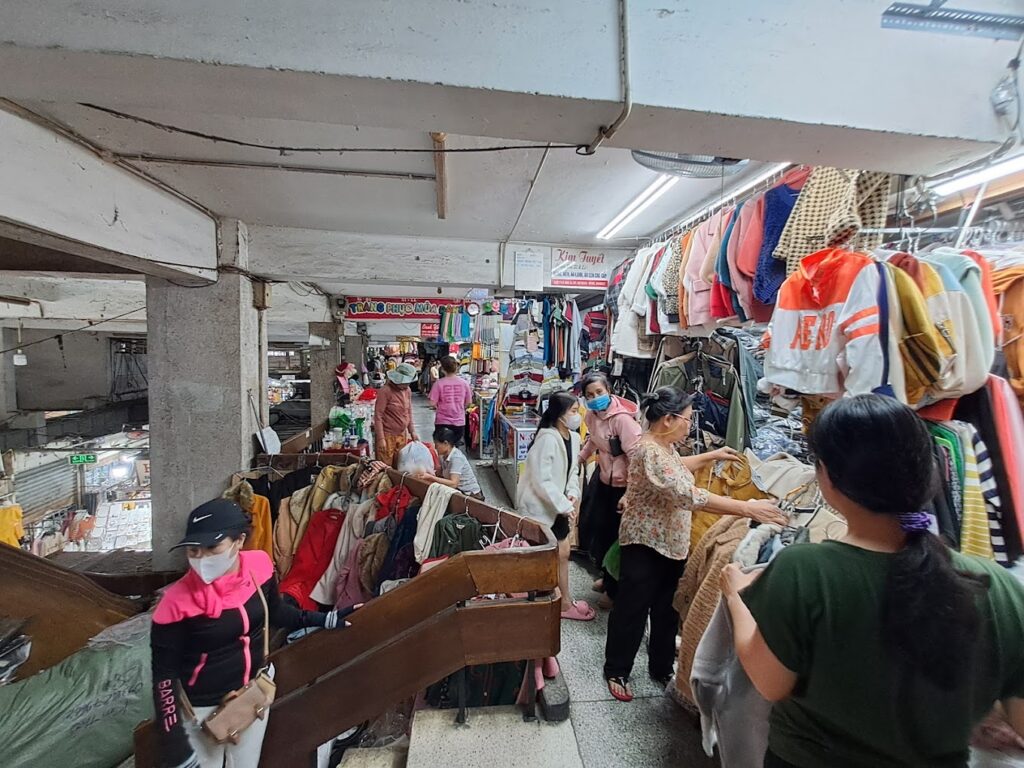
[[[604,679],[611,695],[620,701],[633,700],[630,673],[648,615],[648,672],[662,685],[668,685],[672,677],[679,630],[679,613],[672,606],[672,598],[689,555],[693,510],[749,517],[758,522],[786,521],[771,502],[740,502],[694,486],[694,471],[736,454],[725,449],[679,456],[675,443],[690,432],[692,403],[692,395],[673,387],[662,387],[645,395],[640,403],[649,426],[630,458],[618,529],[623,550],[618,596],[608,617],[604,650]]]

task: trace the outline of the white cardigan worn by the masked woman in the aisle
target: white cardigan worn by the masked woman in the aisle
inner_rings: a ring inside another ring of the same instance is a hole
[[[557,429],[550,427],[537,431],[516,487],[516,511],[523,517],[552,525],[556,515],[572,512],[573,505],[568,498],[580,498],[580,473],[577,470],[580,433],[570,432],[569,439],[572,456],[565,456],[565,442]]]

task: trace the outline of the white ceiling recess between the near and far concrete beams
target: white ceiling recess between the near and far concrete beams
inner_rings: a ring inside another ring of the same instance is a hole
[[[80,104],[25,105],[118,154],[362,172],[433,173],[429,154],[282,154],[171,133]],[[431,145],[430,126],[416,132],[153,110],[133,114],[203,133],[275,146],[429,148]],[[495,143],[521,142],[450,136],[447,145],[464,148]],[[685,151],[685,142],[681,144],[680,150]],[[656,177],[634,163],[627,150],[602,148],[592,157],[578,156],[572,150],[552,150],[528,206],[512,232],[542,156],[542,150],[447,155],[449,218],[445,220],[436,216],[431,180],[146,161],[137,164],[214,212],[254,224],[368,234],[581,245],[596,244],[596,232]],[[756,174],[761,167],[752,163],[743,175]],[[726,188],[735,183],[736,180],[728,179]],[[617,239],[628,241],[655,232],[720,188],[719,180],[682,179],[621,231]]]

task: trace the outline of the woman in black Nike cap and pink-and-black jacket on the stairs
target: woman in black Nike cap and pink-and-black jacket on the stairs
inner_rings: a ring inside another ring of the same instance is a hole
[[[269,716],[249,726],[237,744],[217,743],[202,723],[263,667],[264,625],[349,626],[344,617],[354,608],[319,613],[282,600],[267,554],[242,551],[248,527],[241,507],[217,499],[193,510],[185,538],[174,547],[186,548],[188,572],[161,597],[150,636],[162,768],[256,768]]]

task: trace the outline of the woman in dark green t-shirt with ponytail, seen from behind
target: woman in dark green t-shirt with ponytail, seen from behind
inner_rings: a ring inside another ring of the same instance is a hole
[[[1024,587],[929,532],[924,422],[889,397],[847,397],[810,445],[847,537],[788,547],[756,581],[722,574],[737,656],[776,702],[765,766],[962,768],[998,701],[1024,734]]]

